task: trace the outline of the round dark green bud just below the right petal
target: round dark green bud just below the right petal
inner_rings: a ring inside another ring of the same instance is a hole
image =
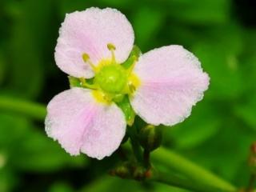
[[[139,142],[145,150],[157,149],[162,142],[162,129],[159,126],[144,126],[139,131]]]

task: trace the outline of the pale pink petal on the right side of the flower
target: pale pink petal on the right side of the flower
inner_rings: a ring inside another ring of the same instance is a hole
[[[142,119],[156,126],[182,122],[209,85],[198,58],[182,46],[165,46],[143,54],[134,73],[141,86],[130,98],[131,105]]]

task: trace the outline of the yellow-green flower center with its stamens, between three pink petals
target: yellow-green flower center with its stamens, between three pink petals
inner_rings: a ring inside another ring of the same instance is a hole
[[[88,54],[82,54],[84,62],[90,64],[95,73],[93,84],[88,84],[86,79],[82,79],[82,86],[92,88],[94,98],[98,102],[121,102],[125,94],[133,94],[140,85],[138,77],[132,73],[137,60],[134,59],[130,67],[124,67],[115,60],[115,46],[109,43],[107,48],[111,52],[111,59],[102,60],[98,66],[90,62]]]

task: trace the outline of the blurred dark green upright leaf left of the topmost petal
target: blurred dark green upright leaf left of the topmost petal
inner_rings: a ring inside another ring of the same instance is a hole
[[[49,39],[46,29],[50,29],[49,21],[52,1],[34,2],[25,0],[18,7],[18,15],[14,20],[10,41],[6,52],[8,71],[6,92],[19,97],[35,98],[38,96],[44,78],[44,48]],[[14,5],[15,6],[15,5]],[[15,8],[17,8],[15,7]]]

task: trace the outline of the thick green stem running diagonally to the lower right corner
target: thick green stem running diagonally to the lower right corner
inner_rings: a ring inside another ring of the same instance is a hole
[[[218,178],[218,176],[212,174],[210,171],[203,169],[186,158],[182,158],[178,154],[175,154],[170,150],[166,150],[163,147],[154,151],[152,159],[156,162],[160,162],[162,165],[170,169],[177,170],[179,173],[186,175],[194,182],[214,187],[218,189],[217,191],[236,191],[236,188],[229,182],[222,180],[222,178]]]

